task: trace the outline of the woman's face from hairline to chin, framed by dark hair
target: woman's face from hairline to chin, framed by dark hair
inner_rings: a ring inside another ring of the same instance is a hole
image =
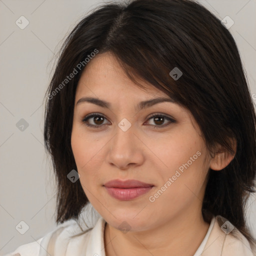
[[[131,231],[201,214],[209,168],[205,143],[191,113],[168,101],[139,108],[141,101],[169,98],[142,84],[146,91],[127,78],[109,53],[94,57],[77,85],[71,134],[87,198],[111,226],[124,225]],[[80,100],[83,97],[106,101],[108,106]],[[91,113],[96,116],[82,121]],[[135,179],[151,186],[106,188],[104,184],[113,179]]]

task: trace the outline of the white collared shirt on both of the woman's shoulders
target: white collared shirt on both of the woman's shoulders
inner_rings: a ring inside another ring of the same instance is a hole
[[[84,228],[81,229],[75,219],[70,219],[59,224],[53,231],[37,241],[20,245],[13,252],[4,256],[105,256],[104,227],[105,220],[101,216],[97,219],[94,227],[85,231]],[[80,232],[82,234],[71,237]],[[208,231],[194,256],[253,256],[248,241],[241,233],[239,235],[242,242],[229,234],[225,234],[217,224],[216,217],[212,217]],[[210,249],[206,247],[203,252],[206,244]],[[235,248],[235,250],[231,253],[232,248]]]

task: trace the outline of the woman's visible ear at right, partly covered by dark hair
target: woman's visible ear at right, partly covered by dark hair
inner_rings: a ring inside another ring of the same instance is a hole
[[[210,160],[209,167],[213,170],[221,170],[226,167],[234,158],[236,152],[236,139],[231,139],[232,149],[234,153],[227,151],[223,146],[218,146],[215,155]]]

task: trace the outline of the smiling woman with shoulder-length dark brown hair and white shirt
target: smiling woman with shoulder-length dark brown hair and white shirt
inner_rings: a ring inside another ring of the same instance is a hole
[[[235,41],[202,5],[96,8],[47,90],[58,226],[9,255],[255,255],[255,123]]]

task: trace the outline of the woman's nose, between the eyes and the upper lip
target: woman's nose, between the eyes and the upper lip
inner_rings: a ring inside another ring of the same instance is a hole
[[[141,140],[135,131],[135,125],[132,125],[125,130],[125,125],[129,123],[119,123],[116,125],[115,135],[108,143],[107,161],[117,168],[126,170],[131,165],[141,165],[144,161],[143,148]],[[124,127],[124,128],[123,128]],[[127,127],[127,126],[126,126]]]

